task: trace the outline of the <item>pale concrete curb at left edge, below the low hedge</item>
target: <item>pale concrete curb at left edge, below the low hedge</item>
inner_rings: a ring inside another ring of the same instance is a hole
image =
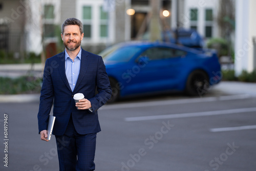
[[[39,102],[40,94],[0,95],[0,102]]]

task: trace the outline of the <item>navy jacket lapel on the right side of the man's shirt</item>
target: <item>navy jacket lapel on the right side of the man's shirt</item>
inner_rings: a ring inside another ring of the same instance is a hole
[[[79,86],[79,83],[81,82],[82,78],[86,74],[88,65],[89,65],[88,53],[82,49],[80,72],[79,72],[79,75],[78,75],[78,78],[77,78],[77,81],[76,81],[76,87],[74,89],[74,92],[77,89],[77,87]]]

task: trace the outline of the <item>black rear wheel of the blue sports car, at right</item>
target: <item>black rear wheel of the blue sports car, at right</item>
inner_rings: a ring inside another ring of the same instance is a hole
[[[209,78],[203,71],[192,72],[186,82],[186,93],[190,96],[202,96],[209,89]]]

